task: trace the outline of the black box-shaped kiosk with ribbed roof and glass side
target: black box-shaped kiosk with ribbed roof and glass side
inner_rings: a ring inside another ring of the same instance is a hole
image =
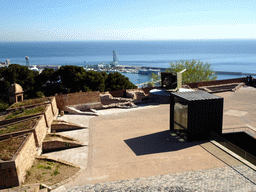
[[[187,141],[222,134],[223,98],[204,91],[170,93],[170,130]]]

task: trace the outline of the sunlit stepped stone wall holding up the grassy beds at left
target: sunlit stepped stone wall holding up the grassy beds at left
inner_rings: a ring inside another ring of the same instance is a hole
[[[1,139],[6,139],[5,137],[29,132],[13,159],[0,162],[0,188],[18,186],[24,182],[26,171],[32,166],[35,156],[40,155],[43,140],[57,115],[58,109],[53,98],[51,104],[47,104],[44,114],[39,116],[33,129],[1,135]]]

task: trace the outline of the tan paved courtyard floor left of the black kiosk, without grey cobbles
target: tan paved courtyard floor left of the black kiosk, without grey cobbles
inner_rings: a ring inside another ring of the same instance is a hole
[[[169,110],[167,104],[91,119],[87,169],[64,187],[229,166],[223,159],[232,157],[217,158],[208,142],[171,136]]]

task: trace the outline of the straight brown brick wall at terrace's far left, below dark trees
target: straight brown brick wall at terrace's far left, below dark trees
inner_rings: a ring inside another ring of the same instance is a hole
[[[64,110],[65,106],[100,102],[99,91],[68,93],[65,95],[56,95],[55,97],[57,107],[60,110]]]

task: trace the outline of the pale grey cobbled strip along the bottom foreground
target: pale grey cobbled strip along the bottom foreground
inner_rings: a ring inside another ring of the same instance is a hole
[[[83,191],[256,191],[256,172],[245,165],[76,186]]]

